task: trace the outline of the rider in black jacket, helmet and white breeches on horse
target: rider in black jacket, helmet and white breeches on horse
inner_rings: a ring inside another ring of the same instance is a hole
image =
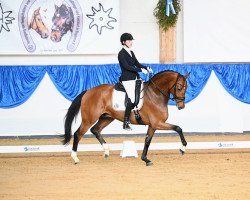
[[[120,37],[120,42],[123,48],[118,54],[118,61],[122,71],[120,81],[128,95],[123,122],[123,129],[126,130],[132,130],[129,126],[129,118],[135,102],[135,83],[136,80],[140,78],[138,72],[143,72],[144,74],[147,74],[148,72],[153,73],[150,67],[140,64],[136,59],[134,52],[130,50],[133,44],[132,40],[134,40],[134,38],[130,33],[123,33]]]

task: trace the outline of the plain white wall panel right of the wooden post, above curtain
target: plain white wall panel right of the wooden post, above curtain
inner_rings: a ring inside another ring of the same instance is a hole
[[[249,62],[250,1],[183,1],[184,62]]]

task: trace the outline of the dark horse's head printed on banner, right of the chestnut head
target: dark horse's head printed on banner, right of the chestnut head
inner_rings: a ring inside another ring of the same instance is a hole
[[[72,32],[74,25],[72,9],[65,4],[62,4],[60,7],[55,5],[55,13],[52,18],[52,23],[50,39],[53,42],[60,42],[64,34],[69,30]]]

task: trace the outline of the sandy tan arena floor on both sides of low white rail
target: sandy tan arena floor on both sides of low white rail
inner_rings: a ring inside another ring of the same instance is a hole
[[[105,136],[104,136],[105,137]],[[249,134],[190,135],[188,142],[249,141]],[[106,137],[108,143],[144,137]],[[156,136],[152,143],[179,142],[177,136]],[[81,144],[98,143],[83,138]],[[0,139],[0,145],[59,145],[60,139]],[[149,150],[154,162],[111,151],[0,154],[0,199],[250,199],[250,149]]]

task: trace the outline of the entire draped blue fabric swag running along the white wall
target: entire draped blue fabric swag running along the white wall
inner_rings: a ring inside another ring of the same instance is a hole
[[[205,87],[212,70],[225,90],[241,102],[250,104],[250,64],[145,64],[154,73],[174,70],[191,72],[185,102],[195,99]],[[58,91],[68,100],[100,84],[115,84],[120,76],[118,64],[0,66],[0,108],[23,104],[48,73]],[[148,76],[141,74],[145,81]],[[170,105],[174,102],[170,101]]]

